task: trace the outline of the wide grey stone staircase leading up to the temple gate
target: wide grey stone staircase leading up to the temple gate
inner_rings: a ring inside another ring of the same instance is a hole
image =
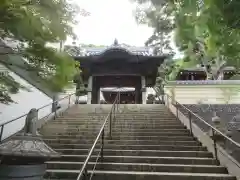
[[[111,105],[76,105],[46,124],[45,142],[62,153],[47,162],[45,179],[77,179]],[[107,127],[108,129],[108,127]],[[235,180],[164,105],[121,105],[112,139],[105,137],[97,180]],[[92,173],[100,142],[90,158]]]

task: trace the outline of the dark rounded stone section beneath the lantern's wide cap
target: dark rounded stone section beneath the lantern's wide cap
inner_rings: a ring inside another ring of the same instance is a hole
[[[1,180],[42,180],[46,164],[34,165],[0,165]]]

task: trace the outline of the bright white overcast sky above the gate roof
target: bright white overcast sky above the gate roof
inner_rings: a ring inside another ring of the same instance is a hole
[[[75,28],[79,43],[111,45],[115,38],[119,43],[144,46],[152,29],[135,21],[134,5],[130,0],[74,0],[91,13],[80,17]],[[67,41],[67,44],[71,40]]]

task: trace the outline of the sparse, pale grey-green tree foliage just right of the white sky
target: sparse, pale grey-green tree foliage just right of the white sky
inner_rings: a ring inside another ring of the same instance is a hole
[[[136,0],[136,20],[153,28],[153,34],[145,45],[154,48],[154,54],[174,54],[171,46],[171,36],[174,28],[173,19],[168,16],[167,7],[162,7],[161,1]]]

